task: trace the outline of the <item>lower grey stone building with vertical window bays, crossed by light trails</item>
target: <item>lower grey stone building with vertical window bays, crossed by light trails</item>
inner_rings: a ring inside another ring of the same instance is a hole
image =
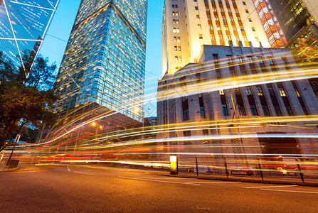
[[[198,63],[159,81],[157,121],[166,131],[157,138],[166,139],[164,152],[317,154],[317,138],[297,136],[318,131],[317,121],[306,119],[318,113],[308,80],[271,74],[295,69],[287,49],[203,45]]]

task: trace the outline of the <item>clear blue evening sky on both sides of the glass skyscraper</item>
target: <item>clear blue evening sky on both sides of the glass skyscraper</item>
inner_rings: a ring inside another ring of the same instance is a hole
[[[40,54],[60,67],[80,0],[60,0]],[[157,80],[161,77],[161,23],[164,0],[148,1],[145,116],[157,115]]]

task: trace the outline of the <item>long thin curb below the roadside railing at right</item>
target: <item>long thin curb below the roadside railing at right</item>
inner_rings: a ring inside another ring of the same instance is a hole
[[[259,182],[259,183],[271,183],[271,184],[280,184],[280,185],[302,185],[302,186],[312,186],[317,187],[318,184],[310,182],[282,182],[280,180],[246,180],[246,179],[228,179],[228,178],[203,178],[203,177],[188,177],[180,175],[164,175],[174,178],[196,178],[201,180],[223,180],[223,181],[238,181],[238,182]]]

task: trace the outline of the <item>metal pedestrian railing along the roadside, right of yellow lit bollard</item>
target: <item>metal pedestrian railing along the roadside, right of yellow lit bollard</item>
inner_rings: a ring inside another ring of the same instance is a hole
[[[176,174],[201,178],[318,182],[318,158],[283,156],[247,158],[177,157]]]

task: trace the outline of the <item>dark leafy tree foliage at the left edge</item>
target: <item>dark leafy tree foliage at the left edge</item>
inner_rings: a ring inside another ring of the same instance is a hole
[[[30,71],[30,54],[24,55],[25,66],[16,67],[0,54],[0,147],[18,126],[55,122],[51,109],[57,100],[52,90],[56,65],[39,56]]]

